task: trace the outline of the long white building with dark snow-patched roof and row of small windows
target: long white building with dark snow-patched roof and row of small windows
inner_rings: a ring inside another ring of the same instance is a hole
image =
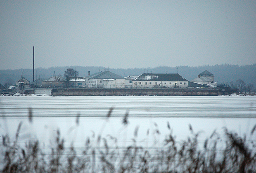
[[[187,88],[188,82],[178,73],[143,73],[133,80],[133,88]]]

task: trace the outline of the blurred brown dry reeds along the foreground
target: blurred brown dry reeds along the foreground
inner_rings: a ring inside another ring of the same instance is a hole
[[[109,110],[106,123],[111,118]],[[78,114],[76,125],[79,126]],[[28,119],[33,123],[33,112],[29,109]],[[128,125],[128,112],[123,117],[123,126]],[[57,131],[50,153],[43,151],[40,141],[29,139],[25,147],[19,145],[17,127],[14,141],[3,135],[0,144],[0,171],[2,173],[256,173],[256,125],[249,136],[239,136],[236,132],[224,129],[225,138],[213,131],[204,145],[199,146],[198,137],[189,125],[190,134],[177,141],[170,124],[164,141],[158,125],[154,124],[155,143],[153,149],[143,147],[137,142],[139,127],[134,131],[133,143],[125,148],[118,146],[118,139],[100,134],[88,137],[82,151],[76,151],[71,144],[65,147],[65,140]],[[96,145],[92,143],[95,141]],[[100,145],[102,143],[102,145]],[[109,145],[111,143],[111,147]],[[219,150],[219,144],[224,148]],[[78,154],[79,153],[79,154]]]

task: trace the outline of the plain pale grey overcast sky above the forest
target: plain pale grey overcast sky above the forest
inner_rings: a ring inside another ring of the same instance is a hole
[[[255,0],[1,0],[0,69],[256,62]]]

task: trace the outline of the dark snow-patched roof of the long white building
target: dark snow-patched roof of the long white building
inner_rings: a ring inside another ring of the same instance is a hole
[[[171,73],[171,74],[161,74],[161,73],[143,73],[142,75],[138,76],[136,79],[137,81],[188,81],[178,73]]]

